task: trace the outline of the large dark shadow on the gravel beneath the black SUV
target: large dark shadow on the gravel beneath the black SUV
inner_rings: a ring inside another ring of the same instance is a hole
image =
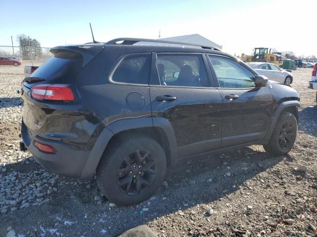
[[[97,204],[94,197],[100,196],[101,193],[95,181],[79,183],[76,186],[60,185],[61,182],[71,179],[59,177],[54,185],[58,191],[49,197],[50,201],[47,204],[18,209],[9,214],[9,217],[0,217],[0,222],[6,227],[19,226],[19,220],[28,220],[27,226],[39,226],[37,218],[28,218],[29,216],[39,216],[44,219],[41,225],[53,228],[52,224],[56,223],[58,217],[76,223],[71,227],[58,225],[56,227],[58,232],[64,235],[71,236],[72,229],[75,231],[76,226],[80,226],[81,231],[89,232],[92,236],[99,236],[102,227],[106,226],[107,234],[116,236],[160,216],[179,210],[185,211],[197,204],[218,200],[236,191],[239,186],[244,185],[245,181],[273,167],[285,158],[285,156],[272,157],[259,150],[247,147],[222,155],[192,158],[169,167],[165,177],[168,187],[160,188],[149,200],[130,207],[109,208],[110,203],[106,198],[101,204]],[[25,164],[21,164],[21,162],[6,165],[6,173],[42,170],[37,163],[28,165],[29,168],[24,169]],[[230,176],[228,176],[228,172],[230,172]],[[74,181],[76,180],[72,180],[72,182]]]

